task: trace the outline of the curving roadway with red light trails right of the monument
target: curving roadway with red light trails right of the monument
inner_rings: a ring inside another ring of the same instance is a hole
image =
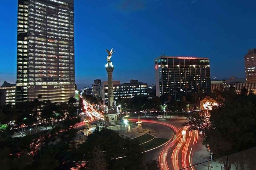
[[[137,119],[130,119],[136,121]],[[145,123],[154,123],[171,128],[174,132],[164,146],[151,150],[147,153],[147,159],[156,159],[160,162],[164,170],[192,169],[186,168],[198,162],[207,161],[209,152],[203,147],[198,131],[189,131],[187,126],[183,126],[184,119],[142,119],[142,126]],[[163,131],[163,129],[162,129]],[[195,154],[195,155],[194,155]],[[157,156],[158,155],[158,156]],[[196,168],[197,169],[197,168]]]

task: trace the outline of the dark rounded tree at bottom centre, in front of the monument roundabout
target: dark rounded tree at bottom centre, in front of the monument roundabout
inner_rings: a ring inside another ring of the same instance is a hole
[[[142,169],[143,148],[137,140],[131,141],[128,138],[119,136],[118,132],[103,128],[90,134],[85,143],[79,146],[80,159],[93,160],[93,151],[97,147],[105,154],[105,161],[108,169]],[[124,159],[114,159],[123,157]],[[101,155],[102,157],[102,155]],[[130,162],[133,162],[130,164]]]

